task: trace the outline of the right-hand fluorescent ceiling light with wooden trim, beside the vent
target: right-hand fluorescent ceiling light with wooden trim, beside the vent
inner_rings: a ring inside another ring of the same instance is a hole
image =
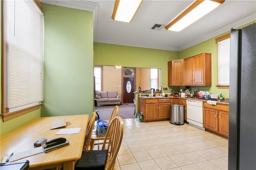
[[[208,12],[214,10],[225,0],[196,0],[164,28],[171,31],[181,31]]]

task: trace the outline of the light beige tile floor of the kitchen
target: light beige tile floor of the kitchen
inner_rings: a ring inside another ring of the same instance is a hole
[[[225,170],[228,139],[188,124],[123,119],[117,170]]]

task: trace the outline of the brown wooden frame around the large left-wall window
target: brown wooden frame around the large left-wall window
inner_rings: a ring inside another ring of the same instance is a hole
[[[41,3],[39,0],[32,0],[36,7],[38,8],[38,10],[42,13],[42,6],[41,6]],[[1,1],[1,15],[2,15],[2,40],[1,40],[1,46],[2,46],[2,51],[1,51],[1,55],[2,55],[2,63],[1,63],[1,67],[2,67],[2,89],[1,89],[1,92],[2,92],[2,113],[1,113],[1,117],[2,117],[2,121],[3,122],[6,122],[6,121],[9,121],[11,119],[14,119],[16,117],[19,117],[19,116],[22,116],[22,115],[25,115],[26,113],[30,113],[32,111],[35,111],[37,109],[40,109],[40,106],[43,104],[43,102],[41,101],[40,103],[38,104],[35,104],[35,105],[32,105],[32,106],[29,106],[29,107],[26,107],[26,108],[23,108],[23,109],[19,109],[19,110],[16,110],[16,111],[12,111],[12,112],[9,112],[9,109],[7,109],[6,107],[6,83],[5,83],[5,79],[6,79],[6,65],[5,65],[5,62],[6,62],[6,43],[4,41],[4,1]]]

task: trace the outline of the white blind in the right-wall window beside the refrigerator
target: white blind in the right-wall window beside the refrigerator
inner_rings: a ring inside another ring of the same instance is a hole
[[[229,85],[230,38],[218,42],[218,85]]]

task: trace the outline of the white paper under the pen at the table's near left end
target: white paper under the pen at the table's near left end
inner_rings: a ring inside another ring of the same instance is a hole
[[[11,158],[9,159],[9,162],[19,160],[19,159],[22,159],[22,158],[26,158],[28,156],[39,154],[39,153],[42,153],[42,152],[44,152],[42,147],[34,148],[34,149],[31,149],[31,150],[26,150],[26,151],[19,152],[19,153],[14,152],[13,155],[11,156]],[[9,156],[10,155],[4,156],[4,158],[2,159],[2,163],[5,163],[6,160],[9,158]]]

